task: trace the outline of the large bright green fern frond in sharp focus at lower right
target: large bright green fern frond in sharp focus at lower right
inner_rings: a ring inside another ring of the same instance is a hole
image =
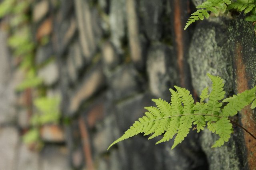
[[[176,135],[173,149],[186,138],[192,125],[196,125],[194,128],[197,129],[197,132],[204,130],[207,125],[211,132],[219,136],[212,147],[224,145],[233,131],[228,117],[236,115],[250,103],[252,103],[252,109],[256,107],[256,86],[223,100],[225,94],[223,79],[219,76],[207,75],[212,80],[212,91],[208,94],[209,88],[206,87],[200,95],[200,102],[194,103],[194,99],[187,89],[174,86],[176,91],[170,89],[172,94],[170,103],[160,98],[152,99],[156,103],[156,107],[145,107],[147,110],[145,115],[135,121],[120,138],[110,144],[108,149],[139,133],[152,134],[148,139],[163,134],[162,139],[156,144],[166,142]],[[206,99],[208,99],[207,103],[205,103]],[[222,102],[227,104],[222,107]]]

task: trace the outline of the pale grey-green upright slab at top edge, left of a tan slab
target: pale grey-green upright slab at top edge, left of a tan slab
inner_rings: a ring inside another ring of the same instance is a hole
[[[121,41],[126,29],[126,0],[111,0],[109,14],[111,41],[121,53]]]

